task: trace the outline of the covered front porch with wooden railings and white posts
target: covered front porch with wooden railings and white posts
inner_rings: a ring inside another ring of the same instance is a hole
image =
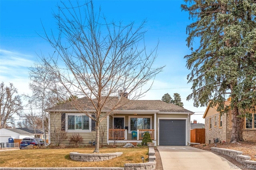
[[[108,117],[107,141],[111,143],[127,142],[142,144],[145,132],[150,134],[156,146],[156,112],[116,114]]]

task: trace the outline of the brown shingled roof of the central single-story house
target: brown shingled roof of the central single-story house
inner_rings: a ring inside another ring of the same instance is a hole
[[[105,98],[103,98],[105,99]],[[97,105],[96,99],[93,99],[95,105]],[[102,100],[103,101],[103,100]],[[182,107],[179,107],[174,104],[168,104],[161,100],[129,100],[125,97],[122,97],[121,99],[118,97],[108,97],[106,99],[106,103],[104,105],[103,111],[110,111],[112,108],[116,105],[116,103],[119,104],[116,107],[116,111],[159,111],[159,112],[172,112],[172,113],[190,113],[192,114],[192,111],[189,111],[187,109],[184,109]],[[79,109],[78,109],[79,108]],[[70,102],[66,102],[61,105],[56,105],[54,107],[51,107],[49,109],[46,109],[46,111],[78,111],[80,109],[93,111],[95,110],[92,102],[86,98],[80,98],[76,99]]]

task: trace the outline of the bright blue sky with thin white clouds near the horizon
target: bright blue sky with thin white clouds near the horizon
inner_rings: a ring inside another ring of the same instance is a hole
[[[67,1],[66,1],[67,2]],[[0,81],[10,82],[19,94],[30,93],[28,88],[28,67],[33,66],[37,54],[47,55],[53,50],[42,37],[44,30],[56,28],[52,13],[60,1],[54,0],[0,0]],[[184,56],[190,54],[186,46],[186,26],[192,23],[188,12],[181,11],[182,0],[96,0],[94,6],[101,6],[102,13],[109,21],[124,24],[140,24],[147,20],[145,29],[146,45],[153,48],[158,40],[158,58],[155,65],[166,65],[156,76],[153,87],[145,100],[161,100],[165,93],[172,97],[179,93],[184,108],[192,112],[191,119],[204,123],[202,119],[206,107],[195,108],[193,101],[186,101],[192,92],[187,83]]]

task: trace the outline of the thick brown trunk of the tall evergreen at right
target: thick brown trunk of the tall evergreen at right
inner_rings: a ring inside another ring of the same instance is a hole
[[[230,142],[244,141],[243,139],[244,118],[240,116],[238,108],[232,110],[232,134]]]

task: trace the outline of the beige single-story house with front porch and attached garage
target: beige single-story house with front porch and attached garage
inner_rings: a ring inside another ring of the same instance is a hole
[[[101,117],[111,111],[119,100],[119,97],[108,97]],[[155,145],[189,145],[190,115],[193,112],[161,100],[129,100],[122,97],[122,101],[126,104],[116,107],[114,114],[106,116],[100,124],[100,134],[104,133],[103,144],[141,144],[144,132],[149,132]],[[97,105],[96,99],[94,102]],[[91,143],[96,138],[95,122],[81,110],[90,114],[95,111],[92,108],[90,100],[84,97],[46,109],[50,115],[50,131],[63,130],[68,137],[79,133],[83,144]],[[132,135],[134,131],[137,132],[136,136]],[[61,143],[69,145],[68,137]]]

